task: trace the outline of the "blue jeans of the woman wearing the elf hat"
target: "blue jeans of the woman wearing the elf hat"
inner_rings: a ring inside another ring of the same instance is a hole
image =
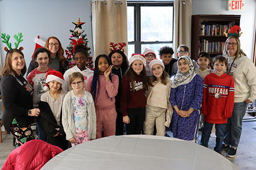
[[[237,148],[242,133],[242,120],[245,116],[247,103],[234,103],[232,117],[228,118],[225,129],[224,144]]]

